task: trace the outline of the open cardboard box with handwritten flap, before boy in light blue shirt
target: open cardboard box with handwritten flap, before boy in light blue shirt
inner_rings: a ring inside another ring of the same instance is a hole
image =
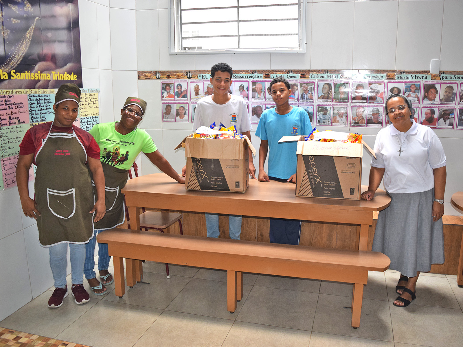
[[[304,136],[284,136],[279,142],[295,138],[296,196],[360,200],[363,147],[375,156],[366,143],[304,141]]]

